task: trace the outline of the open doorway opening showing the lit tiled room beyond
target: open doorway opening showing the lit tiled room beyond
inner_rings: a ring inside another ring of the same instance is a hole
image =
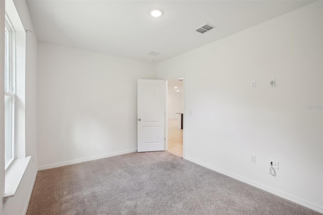
[[[168,151],[183,157],[184,79],[168,81]]]

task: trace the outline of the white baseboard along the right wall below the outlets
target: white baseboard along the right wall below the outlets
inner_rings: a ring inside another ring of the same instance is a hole
[[[302,205],[302,206],[305,206],[305,207],[308,207],[308,208],[310,208],[310,209],[313,209],[313,210],[316,210],[316,211],[318,211],[318,212],[323,213],[323,205],[319,205],[319,204],[316,204],[316,203],[313,203],[313,202],[307,201],[307,200],[305,200],[305,199],[299,198],[299,197],[294,196],[294,195],[291,195],[291,194],[289,194],[289,193],[285,193],[285,192],[283,192],[283,191],[281,191],[281,190],[278,190],[278,189],[272,188],[272,187],[270,187],[270,186],[267,186],[267,185],[264,185],[264,184],[258,183],[258,182],[256,182],[256,181],[252,181],[252,180],[250,180],[250,179],[248,179],[248,178],[245,178],[245,177],[242,177],[242,176],[236,175],[236,174],[231,173],[231,172],[229,172],[229,171],[222,170],[222,169],[219,169],[219,168],[217,168],[217,167],[214,167],[214,166],[211,166],[211,165],[205,164],[205,163],[200,162],[199,160],[196,160],[196,159],[194,159],[194,158],[192,158],[192,157],[185,156],[185,159],[187,159],[187,160],[189,160],[190,162],[193,162],[193,163],[195,163],[195,164],[198,164],[198,165],[200,165],[200,166],[202,166],[202,167],[206,167],[206,168],[208,168],[208,169],[210,169],[210,170],[216,171],[216,172],[218,172],[218,173],[221,173],[221,174],[223,174],[223,175],[226,175],[226,176],[229,176],[229,177],[231,177],[231,178],[237,179],[237,180],[242,181],[242,182],[244,182],[244,183],[246,183],[246,184],[249,184],[249,185],[251,185],[251,186],[257,187],[257,188],[259,188],[259,189],[261,189],[261,190],[265,190],[265,191],[267,191],[267,192],[273,193],[273,194],[275,194],[275,195],[277,195],[277,196],[280,196],[280,197],[282,197],[282,198],[288,199],[288,200],[293,201],[293,202],[295,202],[295,203],[297,203],[297,204],[300,204],[300,205]]]

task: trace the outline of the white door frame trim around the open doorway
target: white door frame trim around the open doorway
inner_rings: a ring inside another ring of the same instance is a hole
[[[168,81],[183,78],[183,158],[185,158],[185,75],[165,80],[165,151],[168,150]]]

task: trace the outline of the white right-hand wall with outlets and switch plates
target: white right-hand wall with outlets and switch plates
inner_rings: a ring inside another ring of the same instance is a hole
[[[159,63],[185,76],[185,158],[323,212],[322,45],[317,2]]]

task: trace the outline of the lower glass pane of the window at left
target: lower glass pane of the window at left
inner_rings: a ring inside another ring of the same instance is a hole
[[[5,160],[6,165],[12,158],[12,120],[13,97],[5,95]]]

